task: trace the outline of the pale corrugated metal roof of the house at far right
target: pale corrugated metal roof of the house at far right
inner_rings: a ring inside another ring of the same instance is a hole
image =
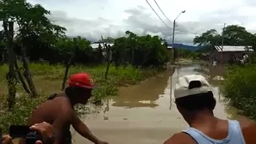
[[[222,45],[215,45],[215,49],[217,51],[222,51]],[[252,46],[223,45],[223,51],[253,51],[253,49],[252,49]]]

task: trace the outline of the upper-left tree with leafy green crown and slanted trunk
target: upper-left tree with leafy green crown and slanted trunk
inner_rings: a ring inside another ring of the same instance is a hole
[[[28,68],[26,50],[31,45],[31,39],[53,39],[66,30],[64,27],[54,25],[48,20],[50,12],[40,4],[32,5],[26,0],[3,0],[1,1],[1,20],[12,21],[18,24],[17,42],[21,45],[24,77],[33,97],[37,96],[31,72]],[[16,58],[16,57],[14,57]],[[15,62],[15,60],[13,60]]]

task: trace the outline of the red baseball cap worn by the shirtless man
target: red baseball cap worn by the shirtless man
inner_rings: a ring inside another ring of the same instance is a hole
[[[69,86],[84,87],[89,89],[94,88],[94,81],[92,81],[90,75],[87,73],[78,73],[72,75],[69,78],[68,84]]]

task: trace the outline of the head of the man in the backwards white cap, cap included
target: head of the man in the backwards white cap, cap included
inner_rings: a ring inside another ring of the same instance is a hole
[[[174,97],[178,111],[187,122],[190,117],[195,117],[202,111],[213,114],[216,104],[209,82],[202,75],[180,77],[175,86]]]

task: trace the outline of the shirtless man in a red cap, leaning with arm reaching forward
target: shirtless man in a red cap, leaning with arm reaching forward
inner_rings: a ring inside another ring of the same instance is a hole
[[[95,144],[108,144],[92,135],[90,129],[78,118],[73,106],[76,104],[85,105],[91,98],[91,91],[94,83],[90,75],[79,73],[72,75],[69,79],[69,86],[62,93],[55,93],[39,105],[28,118],[28,125],[47,122],[53,125],[55,132],[54,144],[71,144],[72,135],[70,125],[84,138]]]

